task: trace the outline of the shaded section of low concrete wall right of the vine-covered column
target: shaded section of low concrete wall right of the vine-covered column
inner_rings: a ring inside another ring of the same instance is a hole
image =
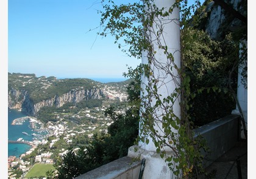
[[[239,118],[239,115],[228,115],[194,129],[195,137],[202,135],[207,140],[208,147],[210,147],[210,154],[206,155],[202,151],[205,156],[205,167],[235,146],[240,136]]]

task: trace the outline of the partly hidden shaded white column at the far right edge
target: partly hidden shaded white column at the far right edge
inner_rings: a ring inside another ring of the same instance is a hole
[[[242,41],[240,42],[240,49],[243,47],[243,44],[246,46],[247,48],[247,41]],[[240,50],[240,57],[241,54],[243,53],[243,49]],[[244,85],[241,83],[241,80],[243,78],[243,76],[241,75],[242,71],[243,71],[243,67],[246,64],[244,64],[244,62],[241,62],[241,64],[238,66],[238,79],[237,79],[237,100],[238,103],[241,107],[242,113],[243,113],[243,117],[244,117],[244,121],[246,122],[246,130],[247,130],[247,89],[244,87]],[[236,115],[240,115],[240,110],[238,109],[238,106],[236,104],[236,109],[232,111],[233,114]],[[241,138],[246,138],[244,136],[244,132],[243,132],[243,124],[241,124]]]

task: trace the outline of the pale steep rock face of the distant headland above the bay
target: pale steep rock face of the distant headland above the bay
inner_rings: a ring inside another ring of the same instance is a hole
[[[8,107],[10,109],[21,109],[26,112],[27,115],[35,116],[41,107],[61,107],[65,103],[76,104],[87,99],[100,99],[102,96],[102,90],[97,88],[70,90],[68,93],[64,93],[61,96],[55,95],[48,100],[34,104],[26,90],[11,88],[8,93]]]

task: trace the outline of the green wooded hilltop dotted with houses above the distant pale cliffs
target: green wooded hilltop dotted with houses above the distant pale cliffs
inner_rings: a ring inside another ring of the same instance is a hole
[[[35,104],[43,100],[61,96],[74,89],[94,89],[101,83],[92,79],[57,79],[54,76],[36,77],[34,74],[9,73],[8,89],[26,90],[30,100]]]

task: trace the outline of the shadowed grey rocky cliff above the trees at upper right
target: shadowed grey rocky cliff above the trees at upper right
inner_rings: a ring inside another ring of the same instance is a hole
[[[225,0],[228,8],[233,8],[241,16],[247,18],[246,0]],[[222,40],[229,32],[246,32],[247,22],[236,18],[232,10],[224,9],[215,1],[205,1],[199,10],[199,29],[205,30],[212,39]]]

